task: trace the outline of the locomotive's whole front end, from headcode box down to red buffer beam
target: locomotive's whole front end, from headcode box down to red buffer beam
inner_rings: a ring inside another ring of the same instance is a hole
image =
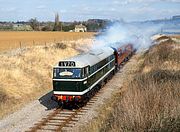
[[[57,102],[81,101],[88,87],[89,66],[79,67],[77,62],[61,61],[53,68],[53,100]]]

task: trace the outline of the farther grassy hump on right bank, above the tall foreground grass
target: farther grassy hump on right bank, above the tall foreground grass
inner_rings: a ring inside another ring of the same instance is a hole
[[[144,55],[144,64],[142,70],[149,67],[150,69],[167,69],[180,70],[180,45],[172,40],[160,43],[151,47]]]

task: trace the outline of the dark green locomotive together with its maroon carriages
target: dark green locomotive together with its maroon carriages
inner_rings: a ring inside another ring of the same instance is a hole
[[[52,99],[60,107],[89,100],[134,54],[132,44],[93,49],[53,67]]]

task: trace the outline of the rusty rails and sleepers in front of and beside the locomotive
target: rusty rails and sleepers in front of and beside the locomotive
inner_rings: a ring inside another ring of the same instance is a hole
[[[99,95],[103,92],[101,89],[95,96],[93,96],[90,101],[87,102],[85,106],[79,109],[55,109],[52,113],[47,115],[47,117],[42,118],[38,123],[34,124],[26,132],[41,132],[41,131],[67,131],[70,127],[73,127],[76,122],[81,118],[82,115],[91,108],[91,106],[98,100]]]

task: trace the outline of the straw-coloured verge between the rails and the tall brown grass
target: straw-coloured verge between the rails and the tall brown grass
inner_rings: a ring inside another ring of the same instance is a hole
[[[126,93],[128,87],[126,82],[133,79],[133,76],[138,72],[139,65],[142,63],[139,58],[141,53],[134,55],[121,70],[100,90],[101,94],[98,99],[90,107],[82,118],[68,131],[101,131],[105,126],[110,125],[107,120],[111,117],[111,112],[117,106],[117,101]]]

